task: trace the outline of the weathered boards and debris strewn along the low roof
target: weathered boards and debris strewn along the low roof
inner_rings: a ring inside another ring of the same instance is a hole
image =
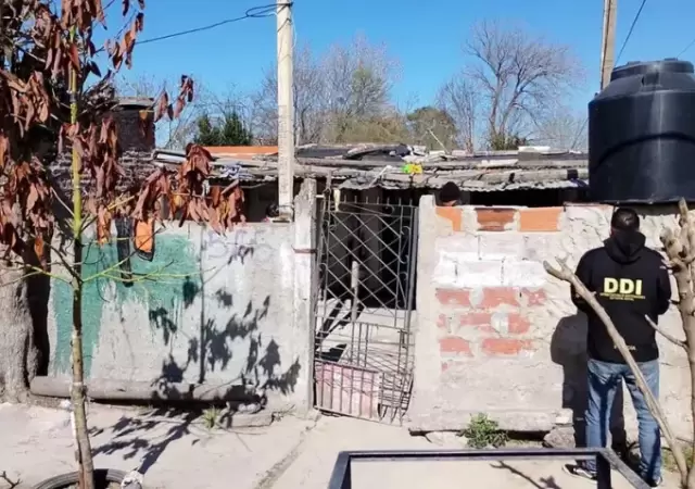
[[[242,181],[277,180],[277,152],[247,154],[214,151],[213,175]],[[182,152],[167,150],[153,155],[155,163],[172,166],[184,159]],[[478,192],[582,188],[589,179],[586,153],[546,147],[446,154],[407,145],[309,145],[296,149],[295,161],[295,177],[326,178],[350,189],[440,188],[454,181],[462,190]]]

